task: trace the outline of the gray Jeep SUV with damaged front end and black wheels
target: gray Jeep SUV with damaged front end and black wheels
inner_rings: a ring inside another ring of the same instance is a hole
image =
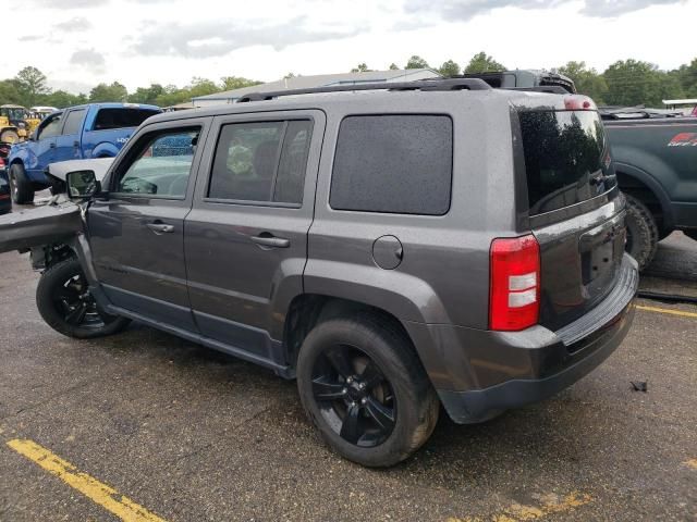
[[[626,335],[637,268],[588,98],[456,78],[241,101],[150,117],[112,164],[70,164],[70,199],[2,217],[50,326],[135,320],[296,377],[329,446],[374,467],[441,405],[486,421]]]

